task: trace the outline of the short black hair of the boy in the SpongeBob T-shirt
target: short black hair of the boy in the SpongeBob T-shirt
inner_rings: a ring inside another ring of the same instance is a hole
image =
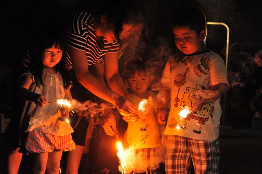
[[[173,15],[171,19],[172,29],[175,26],[188,27],[199,34],[202,30],[207,30],[207,18],[200,7],[187,7]]]

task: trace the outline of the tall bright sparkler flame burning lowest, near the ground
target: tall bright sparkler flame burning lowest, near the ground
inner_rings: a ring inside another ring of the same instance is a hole
[[[128,155],[128,153],[130,153],[130,152],[126,151],[126,149],[123,147],[123,145],[120,141],[116,142],[116,146],[117,146],[117,149],[118,149],[117,156],[118,156],[118,159],[119,159],[119,162],[120,162],[119,172],[122,172],[124,174],[129,174],[129,173],[131,174],[133,167],[132,167],[132,163],[128,162],[129,161],[128,158],[130,157],[130,155]]]

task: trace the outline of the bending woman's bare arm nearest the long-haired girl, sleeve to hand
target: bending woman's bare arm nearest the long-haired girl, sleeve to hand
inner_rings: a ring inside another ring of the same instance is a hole
[[[84,51],[72,47],[69,47],[68,49],[71,55],[71,60],[73,62],[75,75],[79,83],[81,83],[86,89],[95,94],[97,97],[102,98],[103,100],[117,106],[121,114],[136,114],[137,111],[131,101],[128,101],[126,98],[122,97],[118,93],[115,93],[112,90],[108,89],[97,78],[89,73],[88,61],[86,53]],[[114,61],[111,64],[114,64]],[[121,82],[117,85],[121,86]]]

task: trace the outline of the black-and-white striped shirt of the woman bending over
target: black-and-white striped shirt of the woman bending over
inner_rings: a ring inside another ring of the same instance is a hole
[[[75,49],[85,51],[87,54],[88,65],[94,65],[107,52],[117,53],[119,51],[119,42],[107,42],[103,38],[103,49],[97,45],[97,38],[94,29],[94,14],[84,11],[74,11],[65,15],[58,15],[55,17],[55,25],[66,31],[66,42],[68,46]],[[23,65],[27,66],[30,62],[30,45],[22,50],[19,55],[19,60]],[[71,57],[67,54],[66,68],[71,70],[73,68]]]

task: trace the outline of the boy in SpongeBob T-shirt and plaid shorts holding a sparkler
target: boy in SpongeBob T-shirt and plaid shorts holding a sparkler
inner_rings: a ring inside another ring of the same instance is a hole
[[[166,102],[159,102],[158,122],[167,126],[167,174],[218,173],[220,97],[228,86],[223,59],[206,49],[206,16],[200,8],[179,10],[171,22],[181,51],[167,61],[161,85]],[[179,116],[181,110],[189,113]]]

